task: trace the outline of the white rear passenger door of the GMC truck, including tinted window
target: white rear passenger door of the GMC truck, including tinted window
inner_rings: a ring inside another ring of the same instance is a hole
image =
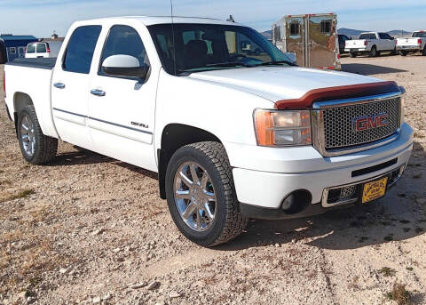
[[[51,103],[59,137],[83,148],[91,148],[86,127],[89,73],[100,31],[99,25],[75,28],[67,49],[59,54],[51,82]]]

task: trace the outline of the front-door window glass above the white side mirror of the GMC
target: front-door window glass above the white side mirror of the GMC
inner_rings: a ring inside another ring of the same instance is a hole
[[[130,55],[136,57],[140,65],[149,65],[142,39],[134,28],[128,26],[114,26],[110,29],[100,58],[99,75],[105,75],[101,71],[102,63],[112,55]]]

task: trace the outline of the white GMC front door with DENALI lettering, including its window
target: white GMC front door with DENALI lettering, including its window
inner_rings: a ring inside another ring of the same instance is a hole
[[[99,69],[91,77],[88,126],[96,150],[132,165],[156,170],[154,109],[157,80],[107,76],[102,63],[112,55],[130,55],[149,65],[145,46],[135,28],[109,29]]]

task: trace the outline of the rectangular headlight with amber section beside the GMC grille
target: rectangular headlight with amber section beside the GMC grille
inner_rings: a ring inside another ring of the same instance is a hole
[[[311,145],[311,114],[309,110],[256,109],[257,145],[298,146]]]

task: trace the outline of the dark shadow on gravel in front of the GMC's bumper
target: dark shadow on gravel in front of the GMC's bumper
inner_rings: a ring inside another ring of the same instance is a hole
[[[250,220],[247,230],[218,250],[303,242],[330,250],[381,245],[421,236],[426,232],[426,153],[414,142],[414,152],[401,181],[386,197],[368,205],[353,206],[304,219]]]

